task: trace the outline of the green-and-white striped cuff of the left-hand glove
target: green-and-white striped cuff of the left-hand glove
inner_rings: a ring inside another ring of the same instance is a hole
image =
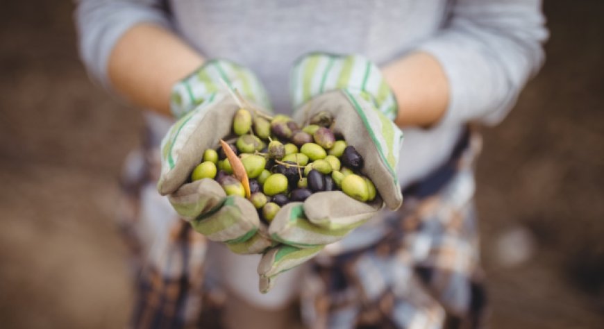
[[[215,59],[205,62],[172,87],[170,108],[174,117],[183,117],[224,90],[221,80],[249,101],[265,109],[271,108],[265,88],[252,71],[230,60]]]

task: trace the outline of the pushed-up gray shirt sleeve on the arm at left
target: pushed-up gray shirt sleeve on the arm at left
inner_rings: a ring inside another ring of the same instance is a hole
[[[117,40],[142,22],[169,27],[157,0],[81,0],[75,20],[80,57],[88,74],[108,89],[107,65]]]

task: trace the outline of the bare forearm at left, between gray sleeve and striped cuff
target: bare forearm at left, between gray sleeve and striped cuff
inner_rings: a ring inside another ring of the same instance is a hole
[[[171,87],[203,63],[176,35],[153,24],[138,24],[118,40],[108,62],[112,86],[135,105],[171,115]]]

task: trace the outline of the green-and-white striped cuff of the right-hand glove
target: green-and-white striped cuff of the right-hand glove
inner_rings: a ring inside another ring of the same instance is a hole
[[[388,119],[396,119],[398,105],[379,67],[360,55],[309,53],[292,70],[292,103],[298,108],[332,90],[346,90],[372,103]]]

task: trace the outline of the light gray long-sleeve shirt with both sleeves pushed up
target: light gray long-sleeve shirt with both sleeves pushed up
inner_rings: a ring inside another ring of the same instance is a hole
[[[467,121],[503,119],[542,65],[547,37],[540,0],[178,0],[169,1],[171,14],[159,2],[81,1],[81,56],[94,78],[110,87],[108,56],[140,22],[173,29],[203,56],[249,67],[278,112],[290,108],[292,63],[309,51],[360,53],[378,65],[410,51],[435,56],[451,86],[450,103],[433,128],[405,129],[401,185],[444,162]],[[162,135],[165,119],[149,118]]]

